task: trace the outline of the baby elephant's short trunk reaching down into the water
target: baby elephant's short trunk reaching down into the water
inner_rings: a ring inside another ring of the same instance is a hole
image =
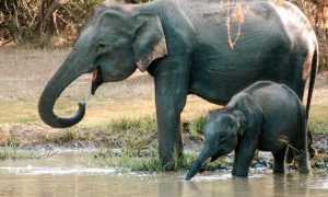
[[[213,155],[213,151],[209,146],[206,146],[202,151],[199,153],[198,158],[196,161],[192,163],[191,169],[189,170],[188,174],[185,177],[185,181],[191,179],[197,172],[200,170],[202,163],[209,159],[211,155]]]

